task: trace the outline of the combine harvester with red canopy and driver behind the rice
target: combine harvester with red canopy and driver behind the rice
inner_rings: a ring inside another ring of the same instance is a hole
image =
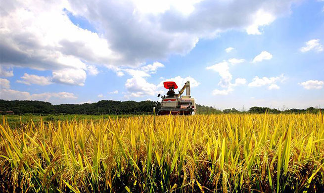
[[[164,88],[169,89],[167,96],[157,97],[162,98],[161,102],[157,101],[153,112],[157,115],[180,114],[180,115],[194,115],[196,113],[196,104],[194,98],[190,96],[190,82],[187,81],[185,86],[179,91],[179,94],[174,92],[178,89],[175,82],[164,82]],[[182,94],[185,91],[185,96]]]

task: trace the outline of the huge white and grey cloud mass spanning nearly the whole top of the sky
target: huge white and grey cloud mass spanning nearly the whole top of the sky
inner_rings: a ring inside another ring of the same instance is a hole
[[[228,30],[260,34],[261,27],[289,13],[292,2],[8,1],[1,3],[1,65],[50,70],[53,81],[82,86],[86,71],[97,73],[88,65],[135,67],[184,55],[200,39]],[[91,30],[74,24],[69,15],[87,20]],[[71,74],[63,75],[63,69],[72,69]]]

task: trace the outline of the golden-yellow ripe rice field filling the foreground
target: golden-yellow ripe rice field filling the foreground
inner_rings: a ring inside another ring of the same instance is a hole
[[[324,192],[322,114],[0,123],[2,192]]]

